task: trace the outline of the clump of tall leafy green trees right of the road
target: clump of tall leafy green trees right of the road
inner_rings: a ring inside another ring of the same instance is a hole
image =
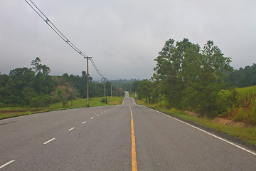
[[[202,115],[218,113],[217,100],[225,86],[224,71],[231,71],[231,58],[224,57],[220,48],[208,41],[201,50],[184,38],[169,39],[155,59],[155,81],[161,96],[171,107],[194,110]]]

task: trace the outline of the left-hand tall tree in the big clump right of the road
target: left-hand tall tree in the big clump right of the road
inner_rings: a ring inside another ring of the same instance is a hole
[[[188,79],[184,77],[186,74],[186,51],[196,48],[194,53],[198,53],[198,45],[194,45],[184,38],[175,44],[174,39],[169,39],[164,44],[164,48],[159,52],[159,56],[155,59],[157,62],[154,68],[152,79],[161,83],[161,95],[174,108],[181,108],[181,100],[183,98],[183,90],[186,88]]]

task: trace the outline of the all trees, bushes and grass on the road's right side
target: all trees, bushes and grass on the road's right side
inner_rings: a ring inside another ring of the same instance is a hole
[[[151,80],[132,85],[131,94],[137,103],[256,145],[255,64],[233,70],[231,58],[224,57],[220,48],[213,46],[213,41],[201,49],[186,38],[166,41],[155,61],[156,73]],[[201,117],[183,110],[199,113]],[[213,122],[215,117],[242,121],[250,126],[221,125]]]

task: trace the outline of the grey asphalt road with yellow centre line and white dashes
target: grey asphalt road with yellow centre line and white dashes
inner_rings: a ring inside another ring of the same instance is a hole
[[[232,143],[126,93],[122,105],[0,120],[0,171],[256,170],[256,153]]]

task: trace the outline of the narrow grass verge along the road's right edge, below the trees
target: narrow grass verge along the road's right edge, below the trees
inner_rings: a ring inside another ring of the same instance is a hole
[[[221,125],[218,123],[213,123],[213,121],[209,120],[208,118],[196,118],[195,116],[189,115],[188,113],[183,113],[183,111],[181,110],[176,110],[174,108],[166,109],[166,108],[160,107],[159,104],[149,104],[144,102],[143,100],[138,100],[138,99],[136,100],[136,103],[138,105],[145,105],[149,108],[159,110],[161,112],[164,112],[176,118],[189,120],[194,123],[198,123],[199,125],[204,125],[207,128],[213,129],[219,133],[226,133],[235,138],[248,142],[250,145],[256,145],[256,126],[253,126],[252,128],[239,128],[239,127],[232,127],[228,125]]]

